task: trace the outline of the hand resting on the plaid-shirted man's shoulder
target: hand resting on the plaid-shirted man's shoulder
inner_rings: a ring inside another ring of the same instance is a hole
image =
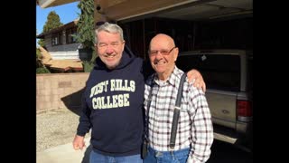
[[[191,71],[187,72],[188,80],[193,84],[193,86],[198,89],[201,88],[202,91],[206,91],[206,83],[204,82],[201,74],[196,69],[191,69]]]

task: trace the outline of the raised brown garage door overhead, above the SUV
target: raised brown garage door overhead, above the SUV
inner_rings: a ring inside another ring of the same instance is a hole
[[[118,18],[120,22],[149,17],[161,17],[177,20],[208,21],[215,19],[234,19],[253,16],[253,0],[200,0],[186,4],[175,4],[170,7],[160,7],[144,14],[133,14]]]

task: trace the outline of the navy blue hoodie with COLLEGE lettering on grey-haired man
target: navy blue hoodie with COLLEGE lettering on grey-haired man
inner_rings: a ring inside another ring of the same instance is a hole
[[[140,154],[144,120],[143,60],[127,47],[121,62],[108,70],[99,57],[84,91],[77,134],[92,128],[93,150],[107,156]]]

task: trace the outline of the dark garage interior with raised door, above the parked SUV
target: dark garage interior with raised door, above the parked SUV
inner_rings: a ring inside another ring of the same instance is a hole
[[[253,49],[253,1],[194,1],[117,20],[126,43],[146,59],[158,33],[171,35],[181,52],[200,49]]]

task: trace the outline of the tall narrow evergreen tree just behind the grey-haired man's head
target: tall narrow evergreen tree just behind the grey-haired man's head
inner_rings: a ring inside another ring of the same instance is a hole
[[[94,66],[94,61],[97,58],[95,52],[95,34],[94,34],[94,0],[81,0],[78,5],[81,14],[77,24],[77,34],[73,35],[77,43],[82,43],[83,49],[91,53],[89,62],[83,61],[85,72],[90,72]]]

